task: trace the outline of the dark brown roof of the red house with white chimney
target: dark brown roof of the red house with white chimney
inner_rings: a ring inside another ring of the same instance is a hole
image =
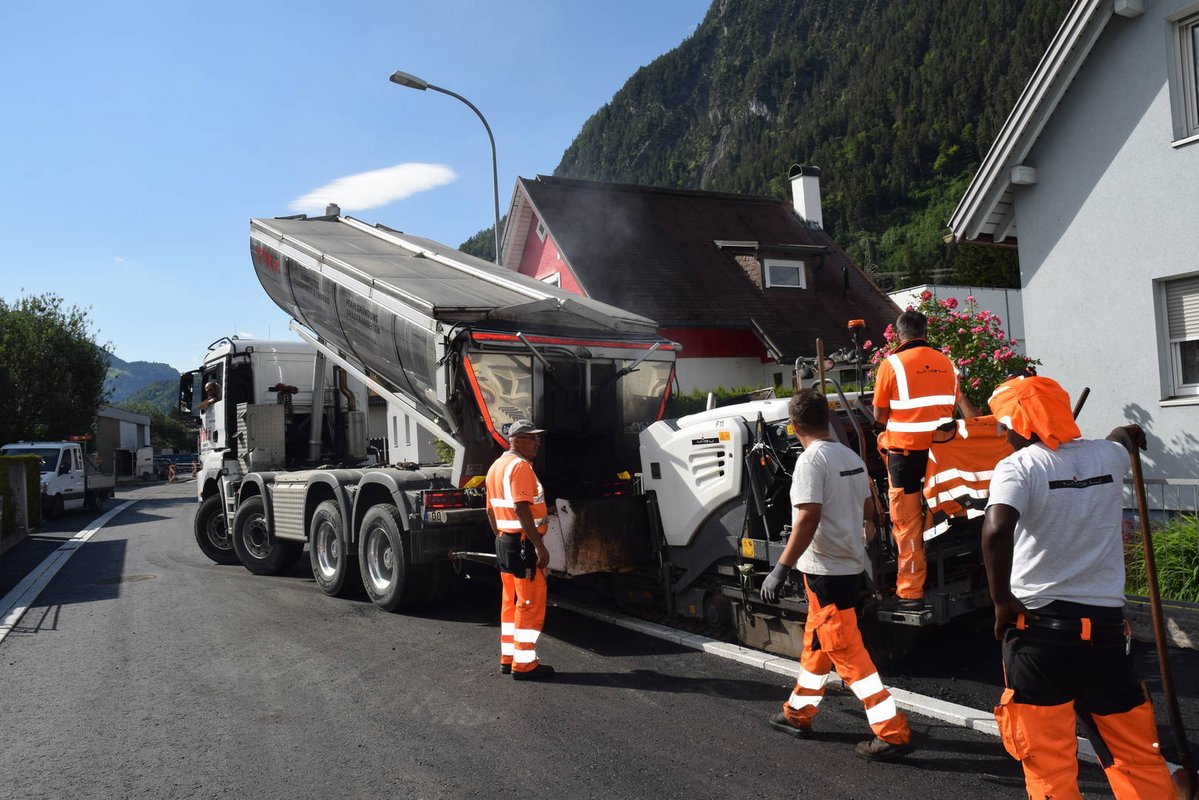
[[[757,324],[788,361],[813,355],[818,337],[827,351],[848,344],[850,319],[878,344],[899,313],[787,200],[543,175],[520,185],[586,293],[663,327]],[[807,254],[808,288],[760,289],[737,263],[754,253]]]

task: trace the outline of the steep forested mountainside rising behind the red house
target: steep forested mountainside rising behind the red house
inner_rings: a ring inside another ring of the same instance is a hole
[[[941,236],[1068,0],[716,0],[639,70],[555,175],[790,197],[884,287],[1018,285],[1016,253]]]

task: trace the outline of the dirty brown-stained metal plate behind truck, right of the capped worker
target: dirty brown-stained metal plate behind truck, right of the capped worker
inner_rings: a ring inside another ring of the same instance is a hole
[[[627,572],[650,559],[645,503],[632,494],[559,498],[543,541],[549,570],[568,576]]]

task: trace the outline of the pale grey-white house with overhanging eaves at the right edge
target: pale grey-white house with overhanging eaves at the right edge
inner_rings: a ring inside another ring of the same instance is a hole
[[[950,219],[1018,246],[1028,351],[1152,477],[1199,477],[1197,38],[1195,0],[1074,2]]]

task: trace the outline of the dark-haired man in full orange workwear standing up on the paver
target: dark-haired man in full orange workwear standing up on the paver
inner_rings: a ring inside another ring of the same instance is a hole
[[[887,459],[887,504],[896,540],[896,596],[903,609],[924,607],[924,516],[921,488],[933,432],[953,421],[959,402],[958,372],[948,356],[924,338],[928,319],[905,311],[896,320],[899,345],[879,362],[874,420],[884,431],[879,450]],[[972,407],[965,409],[974,416]]]

